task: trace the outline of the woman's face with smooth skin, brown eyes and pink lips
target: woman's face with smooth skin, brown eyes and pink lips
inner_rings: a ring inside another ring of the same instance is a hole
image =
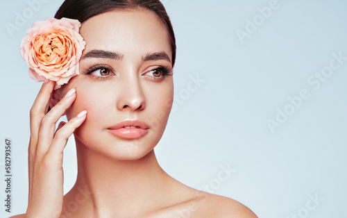
[[[113,10],[87,19],[80,33],[80,75],[61,89],[76,88],[68,119],[87,110],[76,142],[110,158],[142,158],[162,137],[174,98],[166,28],[150,10]]]

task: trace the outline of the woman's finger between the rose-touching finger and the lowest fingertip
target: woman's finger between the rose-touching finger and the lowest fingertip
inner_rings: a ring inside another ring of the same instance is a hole
[[[51,108],[51,110],[42,117],[40,122],[40,131],[37,142],[37,151],[40,153],[45,153],[53,140],[53,136],[56,129],[56,122],[64,112],[71,106],[71,104],[76,99],[76,90],[71,89],[64,98],[62,98],[56,106]]]

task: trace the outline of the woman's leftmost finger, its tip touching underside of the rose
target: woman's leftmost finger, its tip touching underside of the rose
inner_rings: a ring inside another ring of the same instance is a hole
[[[53,91],[55,82],[49,81],[48,83],[43,83],[40,92],[33,103],[30,110],[30,131],[31,131],[31,142],[37,144],[38,131],[40,127],[40,121],[44,116],[46,107],[49,104],[49,99],[51,98],[51,93]],[[35,151],[35,148],[31,148]]]

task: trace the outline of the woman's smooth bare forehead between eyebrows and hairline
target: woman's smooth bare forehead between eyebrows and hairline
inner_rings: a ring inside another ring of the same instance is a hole
[[[80,33],[85,51],[104,49],[119,53],[166,51],[171,55],[169,35],[162,20],[147,9],[104,12],[87,19]]]

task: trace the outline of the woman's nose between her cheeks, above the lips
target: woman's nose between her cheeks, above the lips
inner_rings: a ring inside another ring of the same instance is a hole
[[[145,97],[139,78],[127,76],[118,83],[118,110],[144,110]]]

